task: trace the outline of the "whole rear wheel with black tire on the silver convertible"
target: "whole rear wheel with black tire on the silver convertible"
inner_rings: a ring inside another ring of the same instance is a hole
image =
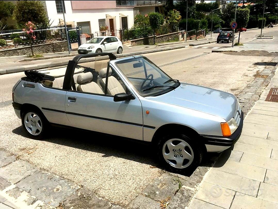
[[[41,139],[49,124],[44,115],[38,110],[28,109],[21,115],[24,131],[33,139]]]

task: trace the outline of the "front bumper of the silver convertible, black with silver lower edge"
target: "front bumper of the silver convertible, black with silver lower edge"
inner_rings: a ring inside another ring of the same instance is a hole
[[[239,137],[241,135],[243,128],[243,112],[241,111],[240,114],[240,123],[239,127],[230,137],[221,137],[221,136],[209,136],[209,135],[201,135],[205,145],[210,148],[208,152],[215,152],[215,151],[223,151],[230,146],[234,145],[237,140],[239,140]],[[213,149],[213,146],[215,146],[215,151]],[[223,149],[221,150],[221,147]]]

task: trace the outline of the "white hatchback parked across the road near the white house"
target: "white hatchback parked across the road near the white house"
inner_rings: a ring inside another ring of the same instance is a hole
[[[78,48],[78,54],[91,54],[102,52],[123,52],[123,44],[115,36],[98,36],[82,44]]]

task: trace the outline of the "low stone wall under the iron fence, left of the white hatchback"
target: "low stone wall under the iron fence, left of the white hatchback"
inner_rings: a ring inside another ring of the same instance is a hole
[[[34,54],[68,51],[68,43],[67,41],[57,41],[53,43],[33,45],[33,51]],[[0,51],[0,56],[19,56],[19,55],[32,55],[31,46],[24,46],[20,48],[6,49]]]

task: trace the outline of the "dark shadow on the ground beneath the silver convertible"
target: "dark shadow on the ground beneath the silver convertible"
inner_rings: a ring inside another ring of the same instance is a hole
[[[23,126],[17,127],[12,132],[31,139],[24,131]],[[111,136],[94,131],[57,127],[52,127],[52,131],[48,133],[48,136],[43,141],[101,153],[104,158],[114,156],[148,164],[164,170],[158,163],[157,150],[149,142],[126,139],[124,137]],[[205,154],[200,166],[211,167],[217,156],[219,156],[219,153]],[[191,176],[193,172],[190,171],[190,173],[180,174]]]

